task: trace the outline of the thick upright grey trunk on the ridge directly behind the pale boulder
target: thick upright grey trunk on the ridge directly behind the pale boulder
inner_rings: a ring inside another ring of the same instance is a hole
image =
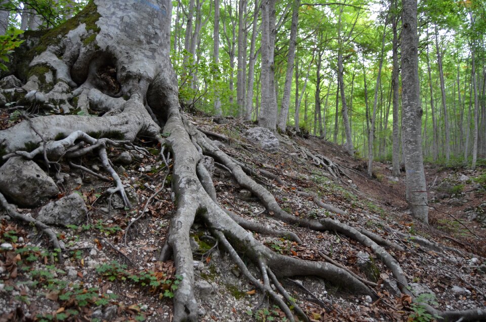
[[[273,54],[275,50],[275,0],[262,1],[261,108],[258,125],[276,131],[277,99]]]

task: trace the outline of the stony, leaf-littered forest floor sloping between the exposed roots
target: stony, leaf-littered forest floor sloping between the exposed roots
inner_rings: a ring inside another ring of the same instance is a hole
[[[370,178],[365,160],[351,158],[342,147],[316,137],[282,137],[279,151],[270,154],[242,136],[251,124],[234,119],[217,124],[207,117],[187,117],[199,128],[229,138],[220,147],[229,155],[278,176],[281,183],[260,176],[256,180],[274,194],[282,209],[306,218],[335,218],[402,246],[404,251],[390,253],[400,263],[409,283],[415,283],[414,291],[422,290],[417,292],[423,293],[424,301],[441,310],[486,306],[486,267],[482,258],[486,257],[484,162],[475,171],[426,166],[431,208],[430,225],[423,225],[407,210],[404,174],[394,178],[388,163],[375,163],[375,176]],[[21,116],[12,118],[5,111],[0,118],[2,129],[21,120]],[[310,160],[302,162],[292,142],[331,159],[342,170],[341,178],[333,179]],[[6,246],[0,249],[0,321],[171,320],[171,298],[180,276],[175,275],[171,261],[158,261],[175,211],[171,177],[167,176],[163,161],[157,159],[158,149],[153,142],[141,140],[137,144],[152,154],[135,154],[131,165],[115,167],[124,184],[138,195],[139,203],[133,209],[125,208],[117,195],[111,200],[102,196],[111,183],[63,165],[62,171],[70,177],[59,197],[79,193],[89,210],[82,225],[55,227],[67,249],[62,253],[63,263],[55,260],[45,236],[5,214],[1,217],[0,242]],[[112,149],[110,155],[120,152]],[[84,158],[82,162],[97,171],[96,157]],[[213,182],[218,202],[224,208],[271,229],[291,230],[302,239],[297,244],[254,233],[273,251],[307,260],[331,258],[377,284],[375,290],[380,299],[373,302],[369,296],[347,293],[339,281],[299,276],[283,280],[284,287],[310,319],[430,318],[422,307],[411,303],[410,296],[394,293],[396,284],[394,287],[385,283],[393,280],[392,274],[370,249],[335,232],[316,232],[273,219],[259,200],[239,187],[223,168],[215,167]],[[163,189],[142,214],[146,200],[160,188]],[[323,210],[312,198],[299,195],[299,191],[314,192],[324,203],[345,213]],[[35,217],[38,210],[19,211]],[[220,251],[197,218],[191,237],[200,320],[285,320],[285,314],[255,291]],[[432,250],[420,246],[417,240],[421,238],[450,248]]]

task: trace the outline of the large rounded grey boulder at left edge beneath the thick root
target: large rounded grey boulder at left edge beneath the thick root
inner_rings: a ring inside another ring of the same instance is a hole
[[[35,162],[11,157],[0,168],[0,191],[20,207],[36,207],[59,193],[57,185]]]

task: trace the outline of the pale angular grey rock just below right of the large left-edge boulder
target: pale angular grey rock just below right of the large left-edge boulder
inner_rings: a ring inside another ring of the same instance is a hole
[[[71,193],[44,206],[37,220],[61,226],[79,225],[85,220],[87,212],[83,198],[77,193]]]

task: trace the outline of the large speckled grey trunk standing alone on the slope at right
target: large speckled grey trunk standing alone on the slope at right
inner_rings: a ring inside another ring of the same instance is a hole
[[[422,156],[422,114],[418,65],[417,0],[402,0],[402,136],[407,202],[417,219],[428,223],[427,188]]]

